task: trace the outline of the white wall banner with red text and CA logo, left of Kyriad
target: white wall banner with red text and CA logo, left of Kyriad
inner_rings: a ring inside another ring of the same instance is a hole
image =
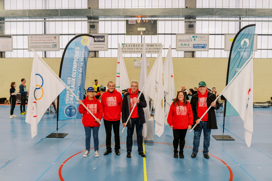
[[[28,51],[60,51],[60,34],[28,34]]]

